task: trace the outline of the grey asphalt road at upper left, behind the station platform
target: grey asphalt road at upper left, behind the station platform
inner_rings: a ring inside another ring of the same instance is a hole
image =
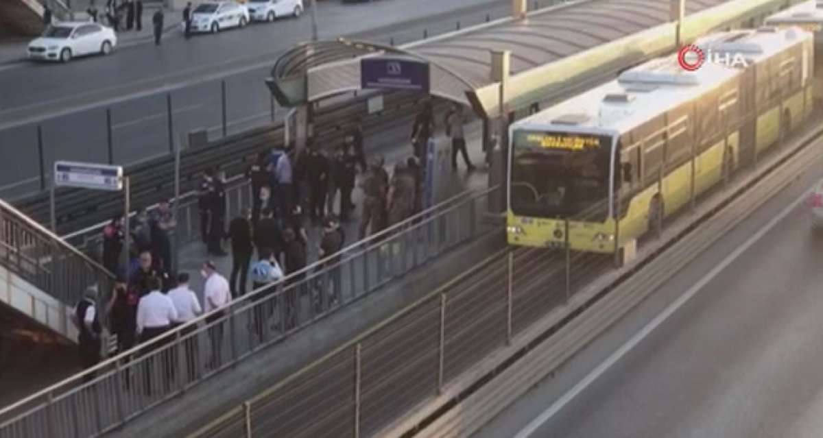
[[[353,35],[402,44],[421,39],[424,30],[438,35],[458,21],[466,27],[508,11],[502,0],[334,1],[320,2],[317,15],[320,39]],[[228,133],[270,123],[272,101],[263,79],[278,54],[310,39],[310,28],[307,13],[190,40],[172,32],[160,48],[142,44],[107,58],[0,68],[0,196],[40,189],[38,124],[48,174],[55,160],[108,161],[106,108],[116,164],[168,153],[167,95],[175,142],[195,128],[220,137],[224,80]],[[276,119],[285,114],[276,112]]]

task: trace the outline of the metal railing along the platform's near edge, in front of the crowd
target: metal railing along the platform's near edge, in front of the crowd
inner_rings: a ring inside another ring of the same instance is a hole
[[[110,431],[472,240],[486,231],[481,212],[497,190],[460,193],[291,273],[283,282],[4,408],[0,437],[97,436]],[[81,383],[89,372],[96,373],[95,379]]]

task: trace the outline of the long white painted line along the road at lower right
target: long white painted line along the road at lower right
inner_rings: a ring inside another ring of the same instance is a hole
[[[575,384],[572,389],[568,392],[563,394],[562,397],[558,398],[555,403],[552,403],[549,408],[543,411],[537,418],[532,420],[532,422],[528,423],[528,426],[524,427],[521,431],[518,432],[514,438],[528,438],[532,435],[538,428],[540,428],[544,423],[549,421],[551,417],[554,417],[557,412],[560,412],[561,409],[565,408],[567,404],[569,404],[575,397],[577,397],[580,393],[582,393],[585,389],[588,388],[588,385],[592,384],[594,380],[597,380],[601,375],[605,374],[611,366],[614,366],[617,361],[620,361],[626,353],[630,352],[632,348],[636,347],[640,342],[642,342],[646,337],[649,336],[650,333],[653,332],[655,328],[658,328],[660,324],[666,321],[670,316],[672,316],[677,310],[679,310],[683,305],[686,304],[692,297],[697,295],[697,293],[703,289],[703,287],[708,284],[710,281],[717,277],[719,273],[722,273],[725,268],[728,268],[728,265],[732,264],[738,257],[740,257],[743,253],[746,252],[752,245],[755,245],[758,240],[760,240],[766,233],[771,231],[774,226],[780,221],[783,221],[789,213],[793,212],[794,209],[797,207],[799,203],[802,203],[803,199],[807,198],[807,196],[811,193],[811,188],[807,189],[803,194],[795,199],[792,203],[788,204],[787,207],[783,208],[776,217],[772,218],[765,226],[760,228],[759,231],[749,237],[742,245],[738,246],[737,249],[732,251],[732,254],[728,254],[722,262],[720,262],[717,266],[712,268],[708,274],[706,274],[703,278],[700,279],[699,282],[696,282],[692,287],[686,291],[685,294],[678,297],[677,300],[672,302],[672,304],[668,305],[663,313],[657,315],[649,321],[649,324],[646,324],[644,328],[642,328],[638,333],[629,339],[628,342],[625,342],[622,347],[618,348],[616,352],[611,353],[606,361],[603,361],[602,364],[597,366],[594,370],[592,370],[584,380],[580,380],[578,384]]]

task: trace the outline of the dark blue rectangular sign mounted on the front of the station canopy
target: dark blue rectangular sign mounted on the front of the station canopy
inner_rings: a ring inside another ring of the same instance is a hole
[[[361,58],[360,88],[429,92],[429,63],[407,58]]]

